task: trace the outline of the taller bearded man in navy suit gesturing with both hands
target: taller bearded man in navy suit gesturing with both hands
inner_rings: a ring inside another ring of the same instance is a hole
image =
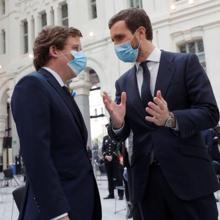
[[[109,28],[118,58],[136,62],[116,81],[116,102],[103,95],[110,136],[133,132],[134,219],[217,220],[218,182],[200,132],[219,111],[197,56],[157,49],[142,9],[120,11]]]

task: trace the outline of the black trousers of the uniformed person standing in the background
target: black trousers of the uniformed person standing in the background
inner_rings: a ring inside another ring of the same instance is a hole
[[[114,196],[115,186],[123,185],[123,167],[119,164],[118,160],[113,158],[112,161],[105,160],[105,168],[108,177],[108,190],[109,195]],[[123,197],[124,191],[118,190],[118,196]]]

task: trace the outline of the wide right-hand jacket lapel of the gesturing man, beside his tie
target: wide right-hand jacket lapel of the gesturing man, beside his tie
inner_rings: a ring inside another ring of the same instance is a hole
[[[173,77],[174,71],[175,67],[172,64],[169,53],[162,51],[154,96],[156,96],[157,90],[161,91],[163,97],[166,96],[166,92]]]

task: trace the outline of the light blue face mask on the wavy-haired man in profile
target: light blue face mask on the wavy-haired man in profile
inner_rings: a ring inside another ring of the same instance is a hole
[[[86,68],[87,57],[82,51],[75,50],[71,51],[71,55],[74,58],[70,60],[67,65],[73,70],[76,76],[78,76],[79,73]]]

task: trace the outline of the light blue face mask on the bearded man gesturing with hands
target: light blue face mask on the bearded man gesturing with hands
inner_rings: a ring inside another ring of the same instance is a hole
[[[140,46],[140,44],[139,44]],[[131,42],[115,45],[117,57],[124,62],[135,62],[138,56],[138,48],[133,48]]]

